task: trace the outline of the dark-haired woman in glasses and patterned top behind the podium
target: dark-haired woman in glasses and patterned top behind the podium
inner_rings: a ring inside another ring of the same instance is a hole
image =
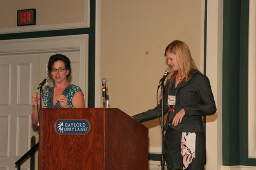
[[[43,91],[44,108],[82,108],[84,98],[81,88],[67,82],[71,74],[70,60],[62,54],[55,54],[49,58],[48,76],[53,79],[54,87]],[[36,103],[36,100],[38,103]],[[33,123],[38,122],[37,106],[40,106],[40,94],[33,96],[34,109],[32,111]]]

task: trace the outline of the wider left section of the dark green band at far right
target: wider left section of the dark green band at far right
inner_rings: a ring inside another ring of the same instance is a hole
[[[240,0],[223,1],[222,161],[239,165]]]

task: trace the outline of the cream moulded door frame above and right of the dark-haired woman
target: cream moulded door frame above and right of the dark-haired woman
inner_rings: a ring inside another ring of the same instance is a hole
[[[13,54],[54,52],[58,50],[79,50],[80,86],[82,91],[88,94],[88,34],[0,41],[0,57]],[[82,76],[85,76],[85,81],[82,81]],[[88,107],[88,95],[84,97],[85,107]]]

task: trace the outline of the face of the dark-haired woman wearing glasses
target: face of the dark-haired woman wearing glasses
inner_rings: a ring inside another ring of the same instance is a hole
[[[63,72],[56,70],[51,71],[51,75],[53,77],[54,83],[61,83],[64,81],[67,81],[67,75],[69,74],[69,70],[66,69],[65,63],[61,60],[58,60],[54,62],[53,68],[52,69],[64,69]]]

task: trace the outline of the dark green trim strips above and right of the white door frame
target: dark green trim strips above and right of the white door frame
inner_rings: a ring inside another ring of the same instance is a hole
[[[33,31],[0,34],[0,40],[23,39],[23,38],[43,38],[68,35],[89,35],[88,47],[88,107],[94,107],[95,99],[95,0],[90,0],[90,27],[77,28],[66,30],[51,30],[51,31]]]

